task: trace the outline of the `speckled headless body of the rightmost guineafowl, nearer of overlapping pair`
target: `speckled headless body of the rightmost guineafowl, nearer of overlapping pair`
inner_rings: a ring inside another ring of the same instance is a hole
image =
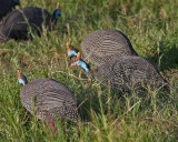
[[[93,72],[105,85],[121,90],[168,87],[157,68],[147,59],[134,55],[120,57],[101,64]]]

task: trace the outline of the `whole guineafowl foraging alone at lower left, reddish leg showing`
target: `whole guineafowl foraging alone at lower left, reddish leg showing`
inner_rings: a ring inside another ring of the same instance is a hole
[[[27,78],[18,70],[18,81],[23,88],[20,98],[23,106],[38,119],[46,120],[55,132],[56,116],[60,119],[77,119],[77,100],[62,83],[49,79],[37,79],[28,83]],[[53,126],[52,126],[53,125]]]

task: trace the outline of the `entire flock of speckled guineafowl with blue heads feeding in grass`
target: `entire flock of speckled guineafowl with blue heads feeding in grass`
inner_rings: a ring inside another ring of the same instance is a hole
[[[16,10],[19,0],[0,0],[0,44],[10,39],[31,39],[30,33],[40,36],[42,26],[52,30],[61,16],[59,4],[50,16],[47,10],[37,7]],[[149,60],[138,57],[129,39],[118,30],[93,31],[82,40],[81,52],[67,43],[67,53],[69,58],[77,57],[71,65],[80,67],[103,87],[110,84],[119,93],[146,87],[169,88],[157,68]],[[92,64],[91,69],[87,62]],[[65,84],[49,78],[28,83],[19,69],[18,81],[23,85],[20,98],[24,108],[33,114],[36,106],[37,118],[46,120],[52,132],[56,132],[56,116],[77,121],[77,99]]]

